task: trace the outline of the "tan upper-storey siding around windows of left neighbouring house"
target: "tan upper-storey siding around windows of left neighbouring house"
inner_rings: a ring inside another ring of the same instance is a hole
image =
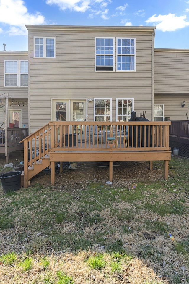
[[[22,51],[1,51],[0,52],[0,94],[9,93],[12,98],[27,98],[28,87],[4,87],[4,60],[28,60],[28,52]],[[18,68],[19,85],[19,68]]]

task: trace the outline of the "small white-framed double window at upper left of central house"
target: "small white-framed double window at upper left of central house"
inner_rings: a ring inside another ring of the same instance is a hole
[[[56,58],[55,37],[34,36],[34,58]]]

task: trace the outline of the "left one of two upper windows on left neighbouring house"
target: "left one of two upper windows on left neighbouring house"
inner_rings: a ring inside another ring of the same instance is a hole
[[[4,86],[18,87],[18,60],[4,60]]]

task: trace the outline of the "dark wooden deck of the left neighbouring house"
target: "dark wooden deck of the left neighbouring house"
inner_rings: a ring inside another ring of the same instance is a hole
[[[27,136],[28,128],[8,128],[7,132],[4,128],[0,128],[0,153],[5,154],[6,163],[9,163],[10,153],[23,149],[23,143],[20,141]]]

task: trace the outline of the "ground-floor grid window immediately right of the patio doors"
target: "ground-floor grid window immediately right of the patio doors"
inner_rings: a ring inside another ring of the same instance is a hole
[[[94,121],[112,120],[112,99],[94,99]]]

